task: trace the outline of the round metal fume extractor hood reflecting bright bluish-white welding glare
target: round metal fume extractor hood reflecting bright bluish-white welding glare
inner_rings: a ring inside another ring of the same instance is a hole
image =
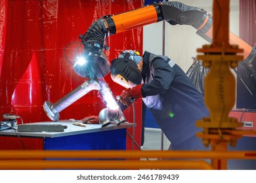
[[[110,63],[102,50],[96,50],[97,47],[93,46],[85,47],[83,56],[75,61],[74,71],[79,76],[96,80],[110,72]]]

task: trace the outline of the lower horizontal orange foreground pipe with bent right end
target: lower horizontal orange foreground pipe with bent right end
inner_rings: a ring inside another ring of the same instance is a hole
[[[0,160],[0,169],[213,169],[205,161]]]

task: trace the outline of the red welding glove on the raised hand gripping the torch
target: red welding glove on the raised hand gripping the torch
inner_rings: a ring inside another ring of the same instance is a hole
[[[135,86],[133,88],[127,88],[123,90],[120,95],[120,101],[123,105],[127,105],[128,107],[133,103],[134,100],[139,99],[142,97],[141,87],[143,84]]]

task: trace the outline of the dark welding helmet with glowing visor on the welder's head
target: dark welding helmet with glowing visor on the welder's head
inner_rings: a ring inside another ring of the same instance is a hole
[[[133,86],[141,84],[142,76],[137,63],[142,57],[139,56],[139,53],[137,56],[131,55],[133,52],[131,50],[128,52],[122,52],[117,59],[112,60],[110,76],[117,84],[125,88],[133,88]]]

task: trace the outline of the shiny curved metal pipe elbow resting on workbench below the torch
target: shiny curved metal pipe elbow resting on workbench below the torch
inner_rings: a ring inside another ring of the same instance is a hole
[[[98,121],[102,127],[110,125],[111,120],[115,120],[119,116],[119,112],[116,109],[103,108],[98,114]]]

